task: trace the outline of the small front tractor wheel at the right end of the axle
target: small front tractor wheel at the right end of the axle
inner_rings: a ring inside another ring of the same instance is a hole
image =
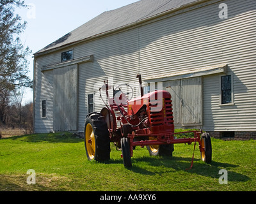
[[[204,142],[204,156],[201,152],[201,159],[205,163],[209,164],[212,162],[212,142],[209,133],[203,133],[201,138],[202,143]]]

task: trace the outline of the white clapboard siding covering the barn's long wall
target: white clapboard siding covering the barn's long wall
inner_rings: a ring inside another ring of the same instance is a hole
[[[220,3],[228,5],[227,19],[219,18]],[[36,57],[35,131],[51,131],[53,126],[52,71],[42,73],[41,68],[60,63],[61,52],[70,49],[74,50],[74,59],[93,55],[93,62],[79,64],[77,131],[84,131],[87,95],[97,95],[97,89],[93,89],[96,83],[111,77],[114,84],[138,83],[139,71],[145,79],[218,64],[228,64],[234,105],[220,105],[221,75],[202,77],[202,128],[256,131],[255,24],[254,0],[209,1],[184,13],[171,13],[166,18]],[[42,99],[47,99],[45,119],[40,117]],[[97,103],[94,110],[102,107]]]

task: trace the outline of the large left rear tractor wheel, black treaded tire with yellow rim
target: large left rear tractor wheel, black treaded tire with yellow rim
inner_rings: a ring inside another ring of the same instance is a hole
[[[84,145],[88,160],[106,161],[110,159],[108,126],[101,113],[88,115],[84,126]]]

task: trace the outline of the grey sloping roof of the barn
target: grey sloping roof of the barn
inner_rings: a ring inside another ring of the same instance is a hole
[[[74,31],[47,45],[47,47],[42,48],[35,55],[77,43],[99,34],[109,33],[109,31],[115,31],[136,22],[139,23],[147,18],[157,17],[161,13],[183,7],[195,1],[199,0],[140,0],[116,10],[105,11],[74,29]]]

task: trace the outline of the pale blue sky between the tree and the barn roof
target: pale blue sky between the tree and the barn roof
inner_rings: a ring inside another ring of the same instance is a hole
[[[33,53],[49,45],[104,11],[114,10],[138,0],[25,0],[29,8],[17,10],[28,22],[20,36]],[[29,76],[33,78],[33,59],[29,57]],[[26,90],[23,103],[33,101],[33,91]]]

